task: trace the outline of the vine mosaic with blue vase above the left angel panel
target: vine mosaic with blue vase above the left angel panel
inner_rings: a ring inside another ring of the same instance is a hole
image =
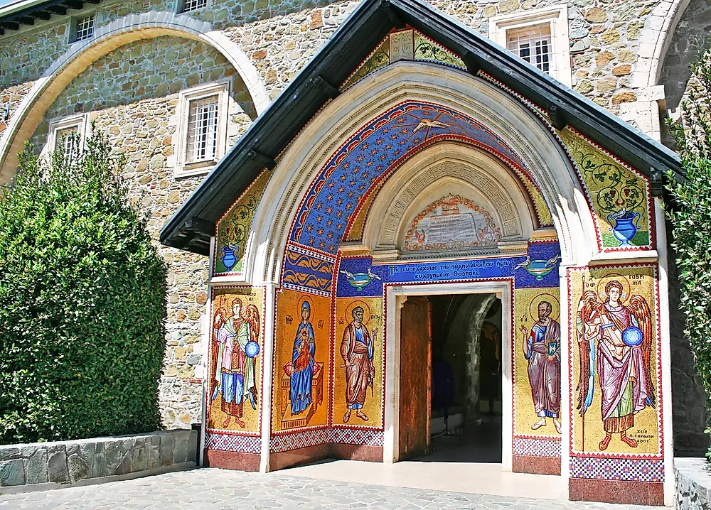
[[[213,264],[215,274],[242,273],[252,219],[255,217],[257,205],[264,194],[270,175],[271,173],[264,170],[218,222]]]

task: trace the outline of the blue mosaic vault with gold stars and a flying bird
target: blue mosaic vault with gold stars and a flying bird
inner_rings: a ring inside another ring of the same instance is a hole
[[[326,163],[299,207],[290,240],[336,254],[348,222],[380,181],[417,151],[445,140],[493,153],[535,186],[513,148],[488,127],[437,104],[404,102],[360,129]]]

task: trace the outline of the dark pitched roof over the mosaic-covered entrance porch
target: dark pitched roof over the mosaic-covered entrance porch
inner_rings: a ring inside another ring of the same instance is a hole
[[[363,0],[328,43],[279,94],[161,229],[161,243],[208,254],[215,222],[368,57],[393,28],[411,26],[458,53],[473,75],[482,70],[545,109],[557,129],[568,125],[634,166],[661,193],[663,173],[683,178],[673,151],[437,11],[424,0]]]

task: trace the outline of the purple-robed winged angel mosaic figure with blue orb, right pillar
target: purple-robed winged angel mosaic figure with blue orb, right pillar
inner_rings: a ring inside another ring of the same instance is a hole
[[[629,304],[624,304],[622,281],[622,278],[608,281],[600,297],[593,291],[584,292],[578,305],[577,408],[583,417],[583,450],[585,411],[592,404],[596,359],[605,431],[598,445],[600,451],[607,449],[616,433],[623,443],[636,448],[637,442],[627,436],[627,430],[634,427],[636,413],[655,403],[651,312],[641,295],[631,296]]]

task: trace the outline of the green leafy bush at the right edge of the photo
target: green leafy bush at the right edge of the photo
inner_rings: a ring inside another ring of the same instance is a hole
[[[680,308],[686,315],[684,334],[694,353],[706,395],[711,395],[711,50],[692,65],[696,77],[683,104],[680,124],[670,133],[688,174],[685,183],[670,181],[673,247],[679,268]],[[711,406],[707,401],[707,411]],[[707,412],[711,418],[711,412]],[[710,432],[711,421],[707,422]],[[707,457],[711,452],[707,453]]]

